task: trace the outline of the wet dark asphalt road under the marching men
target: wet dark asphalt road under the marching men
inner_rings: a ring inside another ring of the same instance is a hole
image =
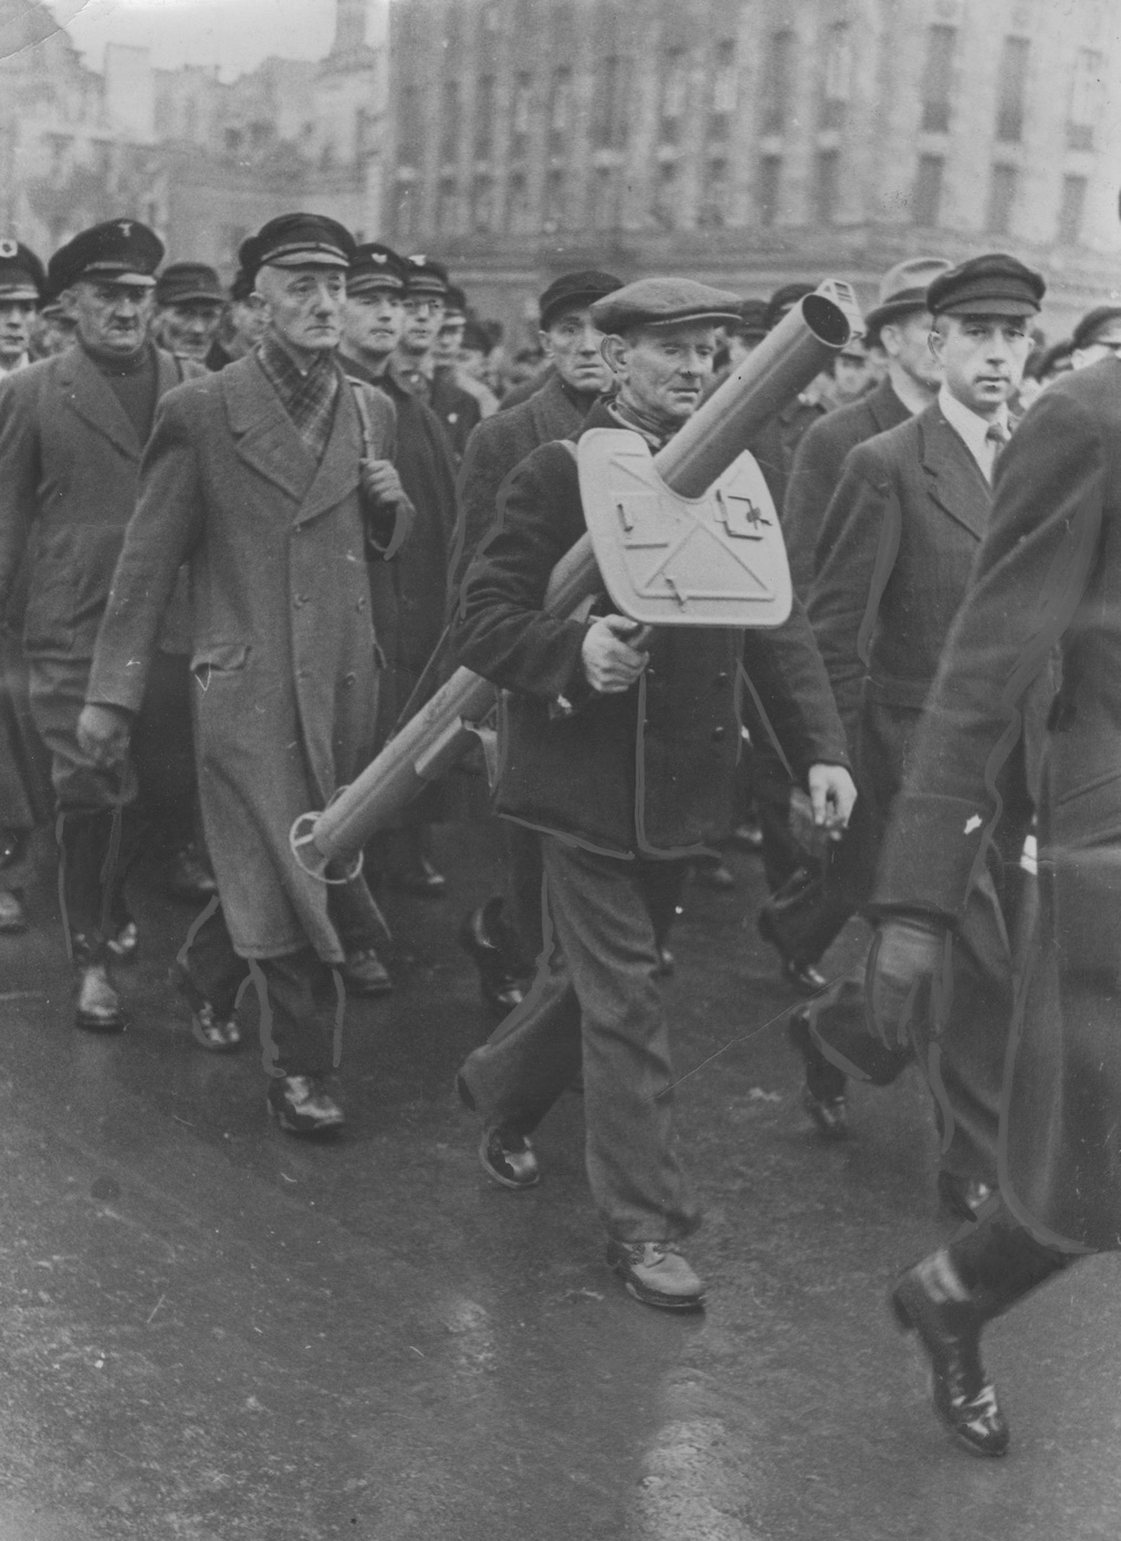
[[[668,986],[706,1313],[606,1271],[578,1097],[540,1188],[487,1183],[453,934],[493,849],[447,831],[449,897],[385,897],[396,992],[348,1008],[335,1147],[267,1122],[251,1051],[193,1045],[167,985],[191,912],[153,874],[133,1025],[76,1032],[45,874],[0,942],[0,1541],[1115,1541],[1116,1261],[990,1330],[1013,1452],[953,1447],[884,1308],[950,1231],[925,1097],[911,1073],[856,1089],[847,1145],[810,1130],[749,858],[689,891]]]

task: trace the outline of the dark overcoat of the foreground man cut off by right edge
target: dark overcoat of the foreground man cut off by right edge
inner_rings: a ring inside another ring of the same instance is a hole
[[[1053,382],[995,504],[884,846],[876,901],[959,925],[1030,692],[1044,747],[1041,912],[1007,1059],[1001,1188],[1052,1244],[1121,1247],[1121,362]]]

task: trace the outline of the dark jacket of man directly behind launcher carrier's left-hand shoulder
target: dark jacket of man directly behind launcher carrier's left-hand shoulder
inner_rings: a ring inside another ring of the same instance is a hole
[[[498,499],[507,478],[540,444],[575,436],[584,411],[564,390],[558,374],[520,407],[495,413],[475,428],[460,467],[460,524],[449,569],[449,606],[458,607],[467,567],[498,519]]]

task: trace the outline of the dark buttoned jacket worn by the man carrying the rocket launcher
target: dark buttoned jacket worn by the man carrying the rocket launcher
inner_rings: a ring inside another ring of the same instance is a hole
[[[606,425],[618,427],[606,407],[594,407],[584,428]],[[743,633],[665,627],[634,689],[592,695],[580,661],[586,623],[541,609],[549,573],[586,529],[564,444],[544,444],[518,467],[500,521],[458,624],[461,663],[510,692],[498,812],[615,855],[699,849],[728,828]],[[786,626],[751,635],[760,689],[799,695],[799,769],[816,760],[843,763],[840,724],[802,607],[796,603]],[[557,715],[560,697],[578,709]]]

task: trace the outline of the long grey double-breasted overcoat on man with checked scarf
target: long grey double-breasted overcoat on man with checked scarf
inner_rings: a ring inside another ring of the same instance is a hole
[[[254,356],[170,393],[97,640],[88,700],[137,710],[160,612],[188,562],[199,792],[244,957],[311,945],[324,962],[342,959],[328,891],[296,865],[288,831],[373,746],[355,390],[372,453],[392,458],[393,407],[369,385],[341,379],[318,467]]]

